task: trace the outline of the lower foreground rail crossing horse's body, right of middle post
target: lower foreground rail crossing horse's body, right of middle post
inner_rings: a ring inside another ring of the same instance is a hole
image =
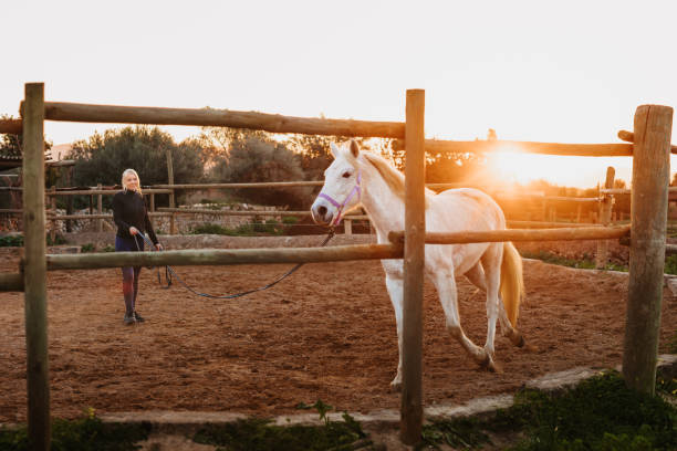
[[[562,229],[508,229],[491,231],[462,231],[456,233],[426,233],[426,244],[467,244],[500,241],[560,241],[560,240],[611,240],[629,233],[629,226],[590,227]],[[404,232],[388,233],[388,240],[399,243]]]

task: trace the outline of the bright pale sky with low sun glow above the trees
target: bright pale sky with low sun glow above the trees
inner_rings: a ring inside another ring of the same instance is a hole
[[[675,18],[674,0],[11,1],[0,114],[44,82],[54,102],[404,120],[406,90],[424,88],[430,138],[618,143],[638,105],[677,106]],[[629,158],[514,160],[500,166],[518,181],[592,187],[608,165],[631,179]]]

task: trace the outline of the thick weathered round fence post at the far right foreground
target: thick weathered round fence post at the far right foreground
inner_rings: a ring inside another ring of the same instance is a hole
[[[637,107],[623,377],[628,387],[649,395],[656,391],[671,128],[673,108]]]

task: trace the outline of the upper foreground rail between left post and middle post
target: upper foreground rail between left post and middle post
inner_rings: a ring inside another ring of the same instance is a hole
[[[23,105],[21,106],[23,109]],[[106,124],[194,125],[250,128],[271,133],[404,138],[404,123],[282,116],[210,108],[91,105],[45,102],[44,118]]]

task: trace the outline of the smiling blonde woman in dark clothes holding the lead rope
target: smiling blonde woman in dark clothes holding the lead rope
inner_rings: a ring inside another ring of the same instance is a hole
[[[123,190],[113,197],[113,221],[117,226],[115,234],[116,252],[136,252],[144,250],[144,239],[139,233],[148,233],[150,241],[162,250],[153,224],[148,219],[148,210],[142,195],[140,180],[134,169],[125,169],[122,175]],[[138,294],[138,276],[140,266],[124,266],[123,295],[125,298],[124,324],[143,323],[145,319],[136,312],[136,297]]]

